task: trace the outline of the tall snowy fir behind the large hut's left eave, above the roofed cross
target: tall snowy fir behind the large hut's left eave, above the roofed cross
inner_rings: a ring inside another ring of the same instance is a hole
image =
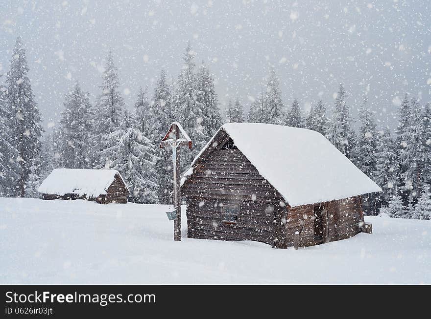
[[[200,91],[198,79],[194,73],[194,52],[190,43],[184,53],[184,67],[178,78],[176,105],[180,118],[180,123],[193,141],[192,151],[185,151],[181,154],[182,167],[187,167],[192,159],[202,149],[211,136],[205,131],[203,110],[205,106],[200,101]]]

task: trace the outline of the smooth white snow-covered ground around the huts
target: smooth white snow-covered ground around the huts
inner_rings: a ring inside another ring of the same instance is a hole
[[[431,222],[366,217],[374,234],[272,249],[174,242],[167,206],[0,198],[0,283],[431,283]]]

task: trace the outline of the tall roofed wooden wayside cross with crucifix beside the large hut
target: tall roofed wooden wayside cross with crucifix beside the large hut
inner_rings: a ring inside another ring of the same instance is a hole
[[[182,137],[180,138],[180,133]],[[173,240],[181,240],[181,188],[180,188],[180,150],[178,147],[187,146],[192,149],[192,140],[181,124],[174,122],[170,125],[168,133],[160,142],[160,148],[172,147],[173,163],[173,206],[176,218],[173,221]]]

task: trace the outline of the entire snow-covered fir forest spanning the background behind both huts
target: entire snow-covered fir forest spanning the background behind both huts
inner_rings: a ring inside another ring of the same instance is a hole
[[[109,53],[96,103],[90,103],[89,93],[79,83],[73,85],[65,96],[59,127],[42,141],[42,118],[27,76],[24,45],[18,38],[6,83],[0,87],[1,196],[38,197],[37,187],[57,167],[105,168],[120,171],[130,201],[170,203],[170,152],[158,148],[170,123],[180,122],[192,138],[192,151],[182,153],[185,168],[224,122],[247,121],[308,128],[326,136],[383,189],[381,194],[365,196],[366,213],[380,210],[394,217],[431,218],[430,103],[422,105],[406,95],[392,138],[389,128],[377,128],[365,97],[355,131],[343,85],[330,112],[319,100],[303,115],[296,99],[288,109],[284,105],[280,81],[271,70],[266,88],[256,94],[247,115],[236,99],[228,102],[223,117],[214,78],[206,64],[197,67],[194,59],[189,44],[177,80],[169,84],[161,70],[154,91],[141,88],[130,112]]]

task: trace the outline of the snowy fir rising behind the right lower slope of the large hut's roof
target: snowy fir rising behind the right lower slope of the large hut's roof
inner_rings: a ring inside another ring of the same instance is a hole
[[[355,152],[355,164],[368,177],[374,180],[376,171],[377,130],[374,114],[364,98],[359,108],[359,135]]]

